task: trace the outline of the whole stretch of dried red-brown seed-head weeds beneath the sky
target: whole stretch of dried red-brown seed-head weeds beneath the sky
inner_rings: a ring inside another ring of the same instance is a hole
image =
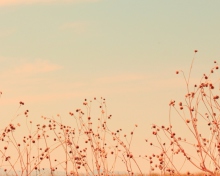
[[[54,118],[42,116],[41,123],[36,124],[28,118],[25,102],[20,101],[18,112],[22,114],[15,115],[0,132],[1,175],[219,175],[219,81],[212,78],[219,67],[214,61],[210,72],[193,84],[190,80],[195,55],[187,75],[176,71],[185,80],[185,98],[170,101],[168,126],[152,125],[151,135],[157,143],[146,140],[148,147],[159,150],[141,156],[142,162],[149,165],[148,173],[142,171],[139,156],[131,150],[138,125],[134,124],[127,135],[122,135],[122,129],[112,131],[108,122],[114,119],[101,97],[84,99],[82,108],[69,112],[69,124],[63,123],[59,114]],[[91,115],[92,105],[98,108],[95,117]],[[172,124],[173,112],[191,136],[178,134],[178,127]],[[25,119],[22,122],[18,120],[21,117]],[[125,174],[117,172],[118,164]],[[181,165],[185,164],[201,173],[183,174]]]

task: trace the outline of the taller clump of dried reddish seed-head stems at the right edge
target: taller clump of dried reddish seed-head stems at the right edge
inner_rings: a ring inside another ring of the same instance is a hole
[[[197,50],[195,50],[195,54]],[[220,169],[220,106],[216,90],[218,81],[213,83],[212,75],[219,66],[214,61],[214,67],[209,74],[204,74],[197,84],[191,88],[190,79],[195,56],[190,66],[188,77],[182,73],[186,83],[184,101],[169,103],[169,125],[153,125],[160,149],[158,155],[150,156],[151,169],[159,169],[162,174],[180,174],[181,168],[187,163],[207,175],[218,175]],[[173,111],[175,118],[182,119],[181,125],[172,123]],[[181,134],[180,129],[185,129]],[[182,166],[180,167],[180,161]],[[190,171],[187,174],[191,174]]]

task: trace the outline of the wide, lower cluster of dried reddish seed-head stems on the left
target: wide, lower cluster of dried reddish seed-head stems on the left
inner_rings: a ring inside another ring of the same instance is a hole
[[[6,175],[45,175],[45,170],[50,175],[56,175],[57,170],[65,175],[114,175],[116,164],[122,162],[127,174],[133,175],[134,165],[138,167],[130,150],[134,130],[130,139],[121,137],[122,129],[111,131],[108,121],[112,116],[107,115],[105,99],[94,101],[98,102],[98,117],[92,117],[92,101],[85,99],[85,112],[69,112],[68,125],[62,123],[60,115],[58,119],[42,117],[42,124],[33,125],[28,121],[28,110],[24,116],[13,118],[0,134],[0,168]],[[20,102],[19,109],[23,105]],[[26,123],[16,124],[19,118],[26,118]],[[22,138],[15,135],[19,128],[27,128]]]

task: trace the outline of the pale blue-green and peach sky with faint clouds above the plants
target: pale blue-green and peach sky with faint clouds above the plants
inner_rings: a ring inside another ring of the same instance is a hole
[[[138,124],[139,150],[152,124],[167,124],[170,100],[185,96],[176,70],[188,74],[195,49],[192,79],[218,61],[219,7],[217,0],[2,0],[2,125],[19,101],[30,118],[61,114],[68,122],[85,98],[104,97],[112,129]]]

